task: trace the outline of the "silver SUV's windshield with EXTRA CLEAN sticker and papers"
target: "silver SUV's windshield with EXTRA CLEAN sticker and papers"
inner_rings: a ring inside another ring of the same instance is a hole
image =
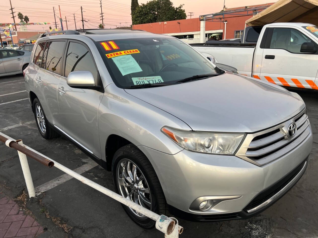
[[[164,86],[192,76],[224,72],[214,69],[208,59],[174,38],[120,39],[100,41],[97,45],[120,88],[156,83]]]

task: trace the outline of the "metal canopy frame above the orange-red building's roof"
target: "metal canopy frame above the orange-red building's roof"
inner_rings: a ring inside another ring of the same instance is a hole
[[[264,9],[268,8],[269,6],[270,5],[221,11],[221,12],[202,15],[199,17],[199,19],[200,19],[200,21],[208,21],[208,22],[214,22],[214,21],[224,22],[224,18],[231,18],[231,17],[236,17],[236,16],[256,15],[259,12],[259,10],[264,10]],[[242,14],[242,12],[246,12],[246,13]],[[225,17],[225,15],[232,15],[232,16]]]

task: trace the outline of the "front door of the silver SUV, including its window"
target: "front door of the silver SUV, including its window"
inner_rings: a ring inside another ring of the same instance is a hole
[[[104,94],[98,90],[73,88],[67,84],[70,72],[90,71],[97,85],[98,70],[93,55],[84,43],[75,40],[68,42],[64,56],[65,74],[61,77],[57,92],[63,130],[74,142],[101,158],[97,115]]]

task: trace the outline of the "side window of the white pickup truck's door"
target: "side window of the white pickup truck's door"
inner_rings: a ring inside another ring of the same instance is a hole
[[[318,49],[317,44],[299,30],[292,28],[274,28],[270,49],[283,49],[292,53],[306,54],[300,52],[301,45],[305,42],[312,42],[315,48]]]

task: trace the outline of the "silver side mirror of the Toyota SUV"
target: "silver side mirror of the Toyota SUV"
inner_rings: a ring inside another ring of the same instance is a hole
[[[72,88],[95,87],[95,79],[89,71],[73,71],[67,76],[66,83]]]

